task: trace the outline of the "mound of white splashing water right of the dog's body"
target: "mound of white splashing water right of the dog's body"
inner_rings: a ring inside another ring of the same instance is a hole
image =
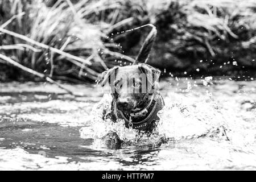
[[[167,104],[158,113],[160,122],[159,134],[167,138],[191,139],[216,133],[225,133],[225,118],[213,103],[207,101],[180,101],[177,104]]]

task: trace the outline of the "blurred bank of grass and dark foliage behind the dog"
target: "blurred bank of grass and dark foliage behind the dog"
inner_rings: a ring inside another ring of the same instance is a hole
[[[125,55],[135,59],[150,28],[121,32],[147,23],[158,30],[148,64],[164,76],[256,76],[254,0],[2,0],[0,26],[9,19],[6,30],[90,61],[0,32],[0,53],[55,80],[95,81],[129,65]],[[0,81],[36,79],[0,60]]]

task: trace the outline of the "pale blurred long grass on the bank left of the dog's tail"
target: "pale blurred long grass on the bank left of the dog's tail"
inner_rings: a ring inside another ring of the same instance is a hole
[[[10,35],[1,35],[1,45],[6,56],[15,61],[44,72],[51,77],[69,78],[69,80],[96,80],[98,75],[108,67],[101,59],[98,49],[105,49],[102,39],[112,24],[98,19],[97,23],[90,23],[96,19],[96,15],[111,9],[118,9],[119,5],[112,1],[80,1],[75,5],[70,1],[57,1],[51,7],[43,1],[3,1],[1,24],[9,20],[13,15],[24,12],[17,16],[7,27],[18,34],[26,35],[36,42],[61,49],[84,58],[92,60],[92,67],[98,65],[97,71],[85,67],[84,64],[67,60],[62,55],[54,54],[49,49],[40,49],[39,52],[28,48],[11,49],[7,46],[28,44],[24,40]],[[88,18],[89,17],[89,18]],[[5,47],[3,47],[5,46]],[[28,44],[28,46],[34,46]],[[113,46],[110,44],[110,46]],[[51,63],[54,60],[54,63]],[[52,69],[54,67],[54,69]],[[86,72],[84,69],[86,68]],[[52,71],[53,70],[53,71]],[[17,76],[19,76],[17,74]]]

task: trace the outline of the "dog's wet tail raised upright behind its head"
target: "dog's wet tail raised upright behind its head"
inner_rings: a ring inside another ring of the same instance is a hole
[[[144,41],[141,50],[139,51],[139,54],[133,64],[147,63],[147,59],[150,55],[150,51],[155,41],[157,32],[154,25],[150,24],[150,26],[152,27],[152,30],[150,31],[150,34],[148,34],[146,40]]]

